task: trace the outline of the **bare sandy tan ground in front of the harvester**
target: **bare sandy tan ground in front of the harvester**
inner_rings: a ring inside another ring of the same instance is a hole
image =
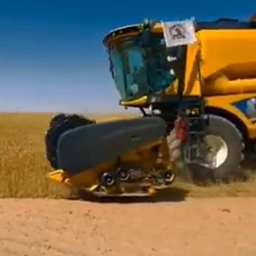
[[[256,255],[256,198],[0,200],[0,256]]]

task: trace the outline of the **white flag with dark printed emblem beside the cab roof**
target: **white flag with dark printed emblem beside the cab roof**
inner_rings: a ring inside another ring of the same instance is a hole
[[[196,33],[192,20],[163,22],[162,24],[166,47],[196,42]]]

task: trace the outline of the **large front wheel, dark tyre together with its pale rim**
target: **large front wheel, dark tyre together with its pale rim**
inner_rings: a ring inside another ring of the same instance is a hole
[[[216,145],[213,142],[214,138]],[[239,166],[243,160],[243,144],[242,135],[235,125],[223,117],[210,114],[206,141],[209,150],[213,151],[214,164],[210,167],[188,164],[193,180],[229,182],[231,177],[238,176]]]

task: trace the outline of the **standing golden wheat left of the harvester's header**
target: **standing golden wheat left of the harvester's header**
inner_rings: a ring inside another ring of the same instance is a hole
[[[50,114],[0,114],[0,197],[63,197],[69,190],[49,182],[44,132]]]

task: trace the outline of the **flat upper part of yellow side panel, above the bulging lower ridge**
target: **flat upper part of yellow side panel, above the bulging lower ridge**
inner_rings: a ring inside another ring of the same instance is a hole
[[[256,30],[202,30],[197,33],[204,79],[218,72],[231,80],[256,78]]]

